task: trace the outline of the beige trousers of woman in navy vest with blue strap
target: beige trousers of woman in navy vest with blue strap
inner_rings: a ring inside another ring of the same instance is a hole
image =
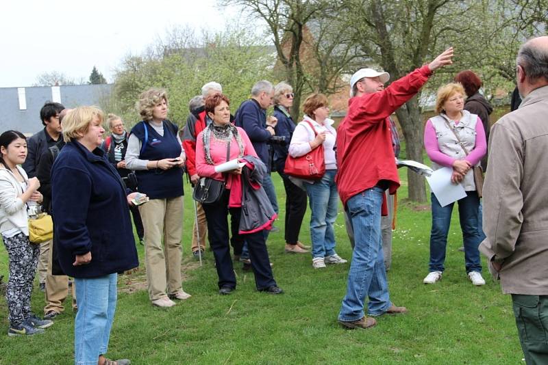
[[[182,289],[183,197],[151,199],[139,206],[139,213],[145,228],[149,298],[156,300]]]

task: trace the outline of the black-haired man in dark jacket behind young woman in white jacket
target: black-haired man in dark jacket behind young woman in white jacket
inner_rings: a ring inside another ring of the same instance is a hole
[[[29,178],[36,177],[40,157],[47,149],[57,143],[61,137],[61,122],[59,113],[64,109],[60,103],[47,102],[40,109],[40,120],[44,124],[42,131],[35,133],[27,139],[27,159],[23,163],[23,169]],[[38,279],[40,290],[45,291],[47,275],[47,256],[49,254],[49,241],[40,243],[40,258],[38,259]]]

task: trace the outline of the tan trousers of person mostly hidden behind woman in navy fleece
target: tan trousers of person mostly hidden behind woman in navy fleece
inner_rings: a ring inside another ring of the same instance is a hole
[[[48,260],[47,260],[47,275],[46,275],[46,306],[44,313],[64,311],[63,301],[69,295],[69,277],[66,275],[51,275],[51,267],[53,262],[53,240],[49,242]],[[72,286],[73,309],[76,308],[76,291],[75,283]]]

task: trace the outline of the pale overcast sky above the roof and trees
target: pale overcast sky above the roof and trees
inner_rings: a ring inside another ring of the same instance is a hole
[[[166,29],[222,30],[239,17],[216,0],[2,1],[0,87],[23,87],[44,72],[79,81],[97,66],[109,82],[125,55],[140,54]]]

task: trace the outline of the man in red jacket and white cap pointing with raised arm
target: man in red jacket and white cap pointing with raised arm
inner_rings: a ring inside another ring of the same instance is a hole
[[[434,70],[451,64],[451,57],[453,49],[449,48],[386,89],[386,72],[362,68],[350,79],[351,98],[347,116],[338,127],[336,144],[336,183],[355,240],[347,294],[338,315],[344,327],[369,328],[377,323],[364,315],[366,295],[370,316],[407,312],[390,301],[382,254],[384,191],[395,193],[399,187],[388,117],[419,92]]]

